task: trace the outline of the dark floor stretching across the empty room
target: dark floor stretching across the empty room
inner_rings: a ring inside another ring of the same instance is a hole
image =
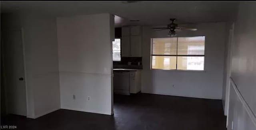
[[[220,100],[137,94],[114,95],[114,116],[60,109],[28,119],[8,115],[1,126],[22,130],[226,130]]]

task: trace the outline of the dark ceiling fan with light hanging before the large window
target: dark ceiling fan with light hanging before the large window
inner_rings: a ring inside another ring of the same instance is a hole
[[[168,33],[170,37],[175,37],[176,31],[182,31],[182,30],[196,31],[197,30],[196,28],[186,28],[186,27],[178,26],[178,24],[174,23],[176,19],[170,19],[170,21],[171,23],[168,24],[167,27],[154,27],[153,29],[158,29],[156,31],[170,29]]]

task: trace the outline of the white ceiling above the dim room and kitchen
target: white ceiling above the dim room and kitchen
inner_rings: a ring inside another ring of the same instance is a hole
[[[82,14],[110,13],[124,19],[116,21],[116,26],[166,25],[170,18],[176,18],[177,23],[208,23],[230,21],[234,18],[237,2],[168,2],[140,1],[124,3],[86,2],[86,1],[55,1],[55,2],[1,2],[1,13],[20,10],[44,12],[54,16],[70,16]],[[130,22],[130,20],[140,20]],[[120,20],[120,18],[119,18]]]

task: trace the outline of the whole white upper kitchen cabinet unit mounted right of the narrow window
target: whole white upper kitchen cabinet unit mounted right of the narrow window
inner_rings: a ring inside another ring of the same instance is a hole
[[[122,57],[141,57],[142,27],[122,27]]]

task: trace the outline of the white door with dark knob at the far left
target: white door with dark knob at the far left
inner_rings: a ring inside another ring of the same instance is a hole
[[[4,46],[6,112],[26,116],[22,31],[4,31],[2,36]]]

